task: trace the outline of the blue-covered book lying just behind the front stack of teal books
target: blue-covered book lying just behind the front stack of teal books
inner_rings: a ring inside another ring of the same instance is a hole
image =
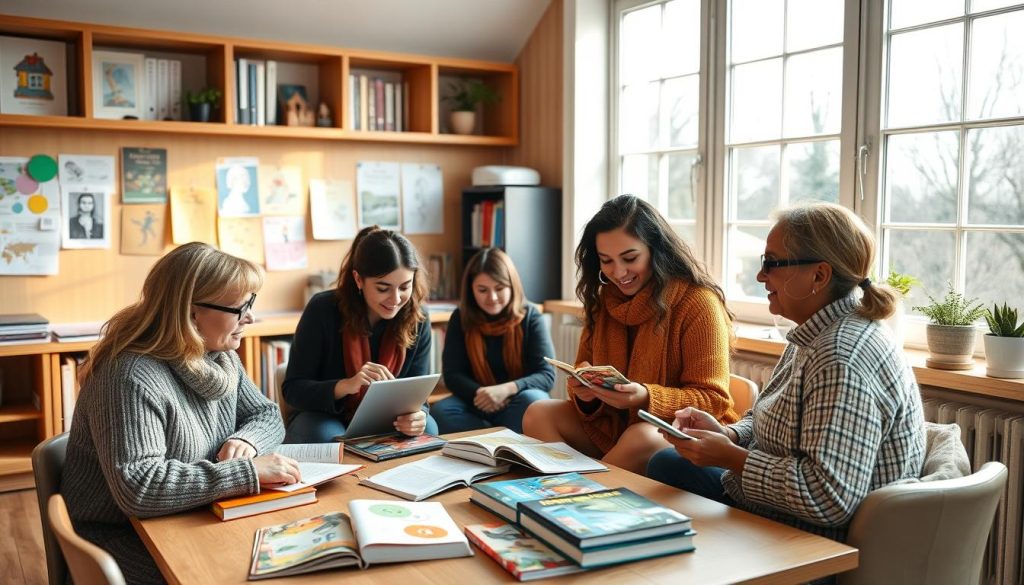
[[[474,484],[470,486],[472,493],[469,496],[469,501],[510,523],[518,523],[516,508],[519,502],[588,494],[606,489],[606,486],[588,479],[580,473],[539,475],[521,479]]]

